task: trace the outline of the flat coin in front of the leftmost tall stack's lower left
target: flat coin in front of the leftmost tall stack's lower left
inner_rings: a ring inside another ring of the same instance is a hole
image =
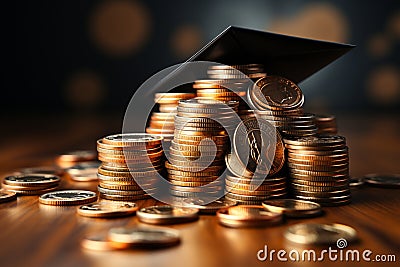
[[[138,206],[133,202],[95,202],[77,208],[79,215],[86,217],[121,217],[135,214]]]

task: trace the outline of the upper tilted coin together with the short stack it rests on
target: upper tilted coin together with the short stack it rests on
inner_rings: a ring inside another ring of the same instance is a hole
[[[267,76],[249,87],[249,101],[254,112],[273,124],[283,136],[314,136],[315,116],[303,113],[304,95],[292,81]]]

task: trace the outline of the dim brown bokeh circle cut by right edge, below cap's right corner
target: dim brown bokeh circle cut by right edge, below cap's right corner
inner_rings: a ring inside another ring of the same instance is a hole
[[[371,73],[367,89],[372,101],[390,105],[400,98],[400,71],[394,66],[382,66]]]

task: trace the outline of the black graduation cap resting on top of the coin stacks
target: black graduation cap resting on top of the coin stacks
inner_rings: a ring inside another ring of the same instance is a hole
[[[268,74],[299,83],[354,47],[229,26],[187,62],[259,63],[265,65]]]

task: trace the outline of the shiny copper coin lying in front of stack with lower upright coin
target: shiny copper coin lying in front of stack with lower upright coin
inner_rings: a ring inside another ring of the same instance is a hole
[[[228,227],[265,227],[282,222],[282,213],[258,205],[239,205],[217,211],[220,224]]]

